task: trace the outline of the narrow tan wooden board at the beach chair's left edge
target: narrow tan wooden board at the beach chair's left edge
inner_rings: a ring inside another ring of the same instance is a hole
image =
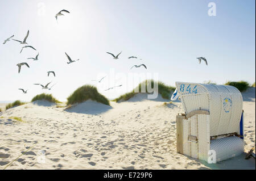
[[[185,115],[176,116],[177,153],[181,154],[183,154],[183,119],[186,119]]]

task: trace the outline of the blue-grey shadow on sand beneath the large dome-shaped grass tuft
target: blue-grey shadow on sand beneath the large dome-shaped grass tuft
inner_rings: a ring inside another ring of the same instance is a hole
[[[108,112],[112,107],[94,102],[92,100],[86,100],[86,102],[76,104],[71,108],[66,109],[67,112],[84,113],[90,115],[98,115],[100,113]]]

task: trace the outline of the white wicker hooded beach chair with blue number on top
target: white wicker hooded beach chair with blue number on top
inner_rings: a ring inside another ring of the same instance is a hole
[[[236,87],[185,82],[176,87],[185,111],[176,119],[178,153],[207,162],[243,153],[242,95]]]

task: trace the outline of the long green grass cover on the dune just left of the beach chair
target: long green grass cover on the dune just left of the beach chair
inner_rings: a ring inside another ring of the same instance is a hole
[[[141,92],[142,85],[146,87],[146,92],[148,93],[147,84],[150,81],[151,81],[151,87],[154,87],[154,80],[151,79],[151,80],[143,81],[143,82],[139,83],[139,85],[133,91],[123,94],[123,95],[119,96],[118,98],[114,99],[113,101],[118,102],[120,100],[129,100],[134,95]],[[138,91],[135,91],[135,90],[138,90]],[[167,86],[163,82],[158,81],[158,93],[162,95],[162,98],[170,99],[171,91],[174,91],[174,90],[175,90],[175,87]]]

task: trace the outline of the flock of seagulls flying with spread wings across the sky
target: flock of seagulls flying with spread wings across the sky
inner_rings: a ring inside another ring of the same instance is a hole
[[[61,11],[59,11],[59,12],[55,15],[56,20],[57,20],[58,16],[64,16],[64,14],[63,14],[62,12],[70,13],[70,12],[67,11],[67,10],[61,10]],[[23,45],[26,44],[26,45],[24,45],[24,46],[22,47],[22,49],[20,50],[20,53],[22,53],[22,50],[23,50],[24,48],[31,48],[31,49],[36,50],[36,49],[35,49],[34,47],[32,47],[31,45],[27,45],[27,44],[28,44],[28,43],[27,43],[27,38],[28,38],[28,35],[29,35],[29,34],[30,34],[30,31],[28,30],[26,36],[25,36],[24,39],[23,39],[23,41],[13,39],[14,35],[12,35],[12,36],[10,36],[9,38],[7,38],[7,39],[3,42],[3,44],[6,44],[7,41],[14,40],[14,41],[18,41],[20,44],[23,44]],[[113,53],[109,53],[109,52],[106,52],[106,53],[112,55],[112,56],[113,56],[113,59],[117,60],[117,59],[119,59],[118,56],[122,53],[122,51],[121,51],[120,53],[118,53],[117,56],[115,56]],[[77,60],[72,60],[71,57],[69,57],[69,55],[68,55],[66,52],[65,52],[65,54],[66,54],[66,56],[67,56],[67,58],[68,58],[67,64],[71,64],[71,63],[73,63],[73,62],[79,61],[79,59],[77,59]],[[27,58],[27,59],[32,59],[33,61],[37,61],[37,60],[39,60],[39,59],[38,59],[38,56],[39,56],[39,53],[36,55],[35,58]],[[136,56],[130,56],[130,57],[128,57],[128,58],[129,58],[129,59],[130,59],[130,58],[135,58],[135,59],[137,59],[138,57],[136,57]],[[201,64],[201,60],[203,60],[203,61],[205,61],[205,64],[208,65],[207,59],[206,59],[205,57],[197,57],[197,59],[199,60],[199,64]],[[139,60],[142,60],[142,59],[140,58]],[[16,65],[16,66],[18,66],[18,73],[20,73],[20,70],[21,70],[21,68],[22,68],[23,65],[27,66],[27,68],[30,68],[30,66],[27,64],[27,62],[19,63],[19,64]],[[133,65],[130,69],[133,69],[133,68],[140,68],[141,66],[144,67],[145,69],[147,69],[147,66],[144,65],[144,64],[141,64],[141,65]],[[55,71],[47,71],[47,76],[48,76],[48,77],[49,77],[50,74],[53,74],[53,76],[56,77]],[[105,76],[105,77],[106,77],[106,76]],[[97,81],[98,83],[101,83],[101,81],[102,81],[105,77],[103,77],[103,78],[101,78],[101,79],[98,79],[98,80],[94,79],[94,80],[92,80],[92,81]],[[56,83],[55,83],[54,85],[52,85],[52,86],[49,88],[48,86],[49,86],[50,83],[51,83],[51,82],[47,83],[45,86],[42,85],[42,84],[40,84],[40,83],[34,83],[34,85],[40,85],[40,86],[42,87],[42,89],[51,90],[52,87],[56,85]],[[121,86],[122,86],[122,85],[110,87],[109,89],[106,89],[105,91],[114,89],[115,87],[121,87]],[[26,91],[24,91],[24,89],[19,89],[19,90],[22,90],[24,94],[27,94],[27,90],[26,90]]]

